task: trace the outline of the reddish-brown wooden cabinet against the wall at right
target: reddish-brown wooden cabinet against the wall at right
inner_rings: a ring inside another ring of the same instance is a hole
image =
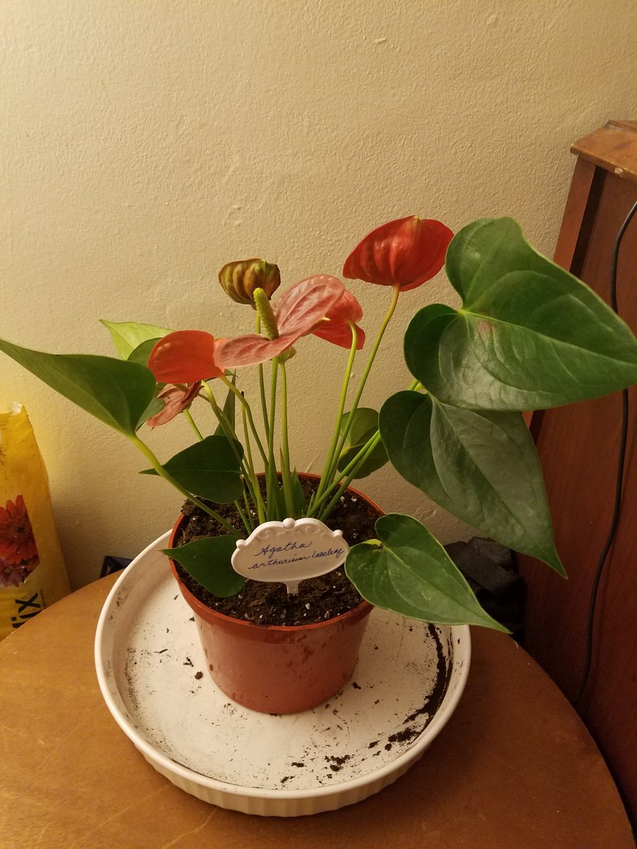
[[[613,243],[637,200],[637,123],[611,121],[572,146],[578,155],[555,261],[609,301]],[[637,215],[618,261],[619,314],[637,331]],[[578,711],[637,823],[637,390],[623,506],[602,573],[589,682]],[[525,646],[568,698],[583,673],[589,599],[612,521],[622,396],[545,413],[531,428],[544,468],[555,542],[569,579],[518,558],[527,579]]]

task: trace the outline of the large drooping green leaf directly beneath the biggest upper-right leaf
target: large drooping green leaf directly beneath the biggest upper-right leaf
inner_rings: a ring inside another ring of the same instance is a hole
[[[403,391],[381,408],[381,433],[397,472],[432,501],[566,574],[555,551],[538,454],[521,413],[464,410]]]

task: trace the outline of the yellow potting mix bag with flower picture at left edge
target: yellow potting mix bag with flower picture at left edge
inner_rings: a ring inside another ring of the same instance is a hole
[[[24,407],[0,413],[0,639],[69,589],[47,470]]]

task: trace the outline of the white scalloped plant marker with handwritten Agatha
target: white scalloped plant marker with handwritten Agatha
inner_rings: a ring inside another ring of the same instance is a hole
[[[253,581],[285,583],[296,595],[299,582],[336,569],[348,551],[342,531],[330,531],[318,519],[284,519],[263,522],[250,537],[237,540],[232,566]]]

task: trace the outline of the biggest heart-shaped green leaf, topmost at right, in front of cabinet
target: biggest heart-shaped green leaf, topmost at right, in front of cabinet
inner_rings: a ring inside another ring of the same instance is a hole
[[[405,359],[457,407],[526,410],[606,395],[637,380],[637,340],[604,301],[538,254],[510,218],[482,219],[449,245],[459,311],[416,313]]]

